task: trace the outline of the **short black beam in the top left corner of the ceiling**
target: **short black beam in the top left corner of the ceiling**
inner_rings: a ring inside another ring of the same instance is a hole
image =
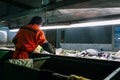
[[[33,8],[33,7],[29,6],[29,5],[22,4],[20,2],[13,1],[13,0],[0,0],[0,1],[11,4],[13,6],[17,6],[19,8],[23,8],[23,9],[32,9]]]

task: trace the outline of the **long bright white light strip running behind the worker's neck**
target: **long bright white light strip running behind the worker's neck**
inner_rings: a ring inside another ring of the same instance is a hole
[[[49,30],[49,29],[107,26],[107,25],[117,25],[117,24],[120,24],[120,19],[106,20],[106,21],[96,21],[96,22],[86,22],[86,23],[77,23],[77,24],[71,24],[71,25],[43,26],[43,27],[40,27],[40,28],[42,30]],[[10,31],[14,32],[14,31],[18,31],[18,29],[13,29],[13,30],[10,30]]]

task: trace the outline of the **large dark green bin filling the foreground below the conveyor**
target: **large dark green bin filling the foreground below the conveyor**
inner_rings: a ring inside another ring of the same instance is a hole
[[[117,61],[49,54],[34,54],[32,59],[33,68],[1,62],[1,80],[67,80],[55,78],[53,73],[74,74],[91,80],[120,80],[120,62]]]

